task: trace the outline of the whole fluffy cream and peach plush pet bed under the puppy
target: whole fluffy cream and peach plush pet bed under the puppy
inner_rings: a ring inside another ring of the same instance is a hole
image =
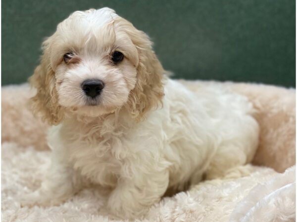
[[[246,95],[254,104],[260,124],[259,148],[253,165],[232,169],[223,178],[164,197],[140,221],[295,221],[296,90],[258,84],[182,82],[192,90],[200,84],[225,84]],[[1,91],[2,221],[112,221],[103,210],[106,191],[98,188],[84,189],[60,206],[20,207],[22,194],[35,190],[49,167],[48,126],[26,106],[34,94],[27,84],[5,86]]]

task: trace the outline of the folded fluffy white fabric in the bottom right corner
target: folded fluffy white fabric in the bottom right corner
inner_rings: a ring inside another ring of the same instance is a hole
[[[230,221],[295,221],[295,168],[252,188],[237,205]]]

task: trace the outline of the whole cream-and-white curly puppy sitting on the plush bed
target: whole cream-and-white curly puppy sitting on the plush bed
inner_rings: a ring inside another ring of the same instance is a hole
[[[30,79],[49,130],[51,167],[23,205],[55,205],[85,185],[111,189],[112,215],[144,215],[166,190],[251,161],[252,105],[218,86],[169,79],[148,36],[109,8],[76,11],[43,43]]]

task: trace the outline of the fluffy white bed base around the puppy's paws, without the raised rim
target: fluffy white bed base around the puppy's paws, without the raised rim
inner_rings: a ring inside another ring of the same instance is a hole
[[[112,221],[101,209],[106,193],[98,188],[85,189],[57,207],[20,207],[21,195],[32,192],[43,180],[49,154],[49,150],[2,144],[2,221]],[[227,222],[230,216],[232,222],[295,221],[295,166],[283,174],[266,167],[240,167],[221,180],[163,198],[143,221]]]

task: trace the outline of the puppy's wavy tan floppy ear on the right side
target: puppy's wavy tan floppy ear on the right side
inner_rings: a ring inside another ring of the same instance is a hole
[[[132,24],[131,24],[132,26]],[[132,26],[133,27],[133,26]],[[164,69],[152,50],[149,37],[142,31],[127,29],[127,34],[138,50],[137,82],[127,102],[128,110],[142,119],[149,110],[162,106]]]

